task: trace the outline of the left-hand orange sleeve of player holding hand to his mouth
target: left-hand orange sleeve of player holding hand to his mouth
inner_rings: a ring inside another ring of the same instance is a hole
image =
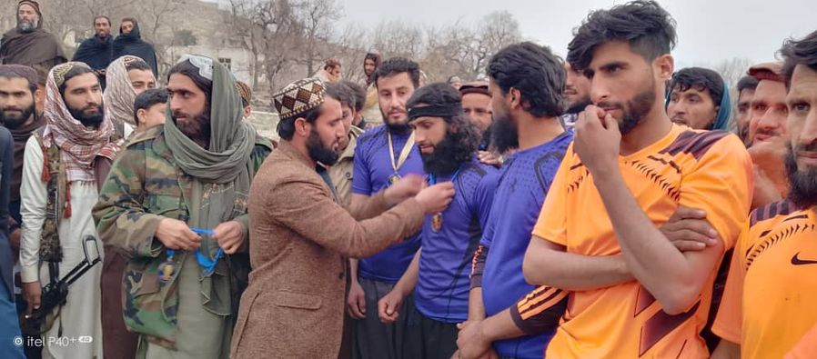
[[[555,244],[568,245],[567,238],[567,200],[570,189],[570,167],[578,156],[573,153],[573,145],[559,165],[559,170],[553,177],[548,195],[542,204],[542,209],[533,226],[533,235]]]

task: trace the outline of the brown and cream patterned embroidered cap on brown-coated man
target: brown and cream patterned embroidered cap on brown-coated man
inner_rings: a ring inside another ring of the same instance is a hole
[[[305,78],[273,94],[272,102],[281,118],[301,115],[323,104],[325,88],[317,78]]]

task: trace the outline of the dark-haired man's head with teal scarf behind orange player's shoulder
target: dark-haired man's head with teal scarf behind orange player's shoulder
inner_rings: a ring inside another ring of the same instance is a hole
[[[708,68],[681,69],[672,75],[667,114],[672,122],[695,130],[726,131],[731,114],[726,83]]]

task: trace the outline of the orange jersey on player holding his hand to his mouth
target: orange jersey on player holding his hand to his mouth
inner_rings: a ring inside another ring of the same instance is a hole
[[[620,156],[630,193],[655,225],[679,205],[700,208],[731,248],[751,202],[751,159],[724,132],[672,125],[658,142]],[[584,255],[620,254],[610,217],[589,170],[568,150],[533,234]],[[661,239],[665,240],[665,239]],[[570,294],[550,341],[549,358],[698,358],[709,353],[699,333],[706,324],[717,266],[688,312],[666,314],[637,281]]]

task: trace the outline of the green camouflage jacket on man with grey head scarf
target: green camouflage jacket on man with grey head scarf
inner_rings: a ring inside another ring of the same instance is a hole
[[[271,151],[272,144],[257,136],[251,175]],[[176,342],[179,271],[165,283],[159,280],[158,267],[167,255],[154,234],[164,218],[189,220],[193,181],[175,165],[164,129],[157,126],[131,137],[117,156],[94,207],[96,229],[103,242],[128,259],[123,280],[126,326],[146,335],[151,343],[170,347]],[[246,197],[243,202],[246,205]],[[249,217],[246,208],[243,212],[235,220],[244,224],[247,240],[243,250],[247,251]],[[185,255],[176,255],[181,257],[178,263],[184,263]],[[216,270],[227,270],[225,261],[219,261]]]

